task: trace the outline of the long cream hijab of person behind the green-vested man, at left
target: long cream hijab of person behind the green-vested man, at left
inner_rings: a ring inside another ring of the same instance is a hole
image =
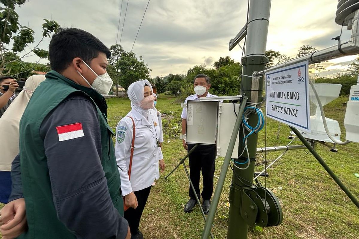
[[[19,154],[19,124],[24,110],[36,87],[45,80],[45,75],[27,78],[23,91],[11,102],[0,118],[0,171],[11,171],[11,162]]]

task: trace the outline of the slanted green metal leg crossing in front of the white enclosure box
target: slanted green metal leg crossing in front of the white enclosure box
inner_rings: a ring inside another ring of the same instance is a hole
[[[229,167],[229,163],[230,163],[230,157],[232,156],[232,152],[233,152],[233,149],[234,149],[234,144],[236,143],[236,138],[237,138],[237,135],[238,135],[239,126],[242,123],[242,115],[243,115],[244,107],[246,107],[246,103],[247,103],[247,96],[244,96],[243,99],[242,99],[241,105],[239,106],[239,112],[238,112],[237,120],[236,120],[236,123],[234,124],[232,136],[230,137],[227,153],[226,153],[224,161],[223,161],[223,166],[222,166],[222,169],[221,169],[221,173],[219,175],[216,190],[214,192],[212,203],[211,203],[211,206],[209,208],[207,221],[206,221],[206,224],[205,224],[203,232],[202,232],[202,239],[208,239],[208,236],[209,236],[209,234],[211,232],[211,228],[212,228],[212,224],[213,224],[213,220],[214,220],[214,215],[216,213],[219,198],[220,198],[221,193],[222,193],[224,180],[225,180],[225,177],[227,175],[227,171],[228,171],[228,167]]]

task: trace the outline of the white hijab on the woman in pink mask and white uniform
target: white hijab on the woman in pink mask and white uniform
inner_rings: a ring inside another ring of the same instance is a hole
[[[140,113],[140,115],[143,116],[143,119],[148,122],[148,116],[151,114],[151,109],[144,110],[140,107],[140,102],[144,99],[143,91],[145,88],[145,84],[151,88],[151,91],[153,91],[151,83],[148,80],[139,80],[133,82],[129,86],[129,89],[127,89],[127,96],[129,96],[129,99],[131,100],[132,110],[135,110]]]

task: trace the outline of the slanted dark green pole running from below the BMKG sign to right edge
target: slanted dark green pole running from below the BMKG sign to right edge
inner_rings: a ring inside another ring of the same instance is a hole
[[[317,151],[312,147],[312,145],[304,138],[304,136],[293,127],[289,127],[293,130],[293,132],[298,136],[298,138],[303,142],[304,145],[308,148],[308,150],[313,154],[313,156],[318,160],[318,162],[323,166],[325,171],[329,173],[329,175],[333,178],[333,180],[337,183],[337,185],[345,192],[345,194],[350,198],[350,200],[355,204],[356,207],[359,208],[359,201],[356,197],[349,191],[347,187],[340,181],[338,176],[330,169],[330,167],[324,162],[322,157],[317,153]]]

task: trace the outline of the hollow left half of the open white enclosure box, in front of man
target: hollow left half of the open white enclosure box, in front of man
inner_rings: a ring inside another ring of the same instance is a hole
[[[187,101],[187,144],[216,144],[218,105],[218,101]]]

